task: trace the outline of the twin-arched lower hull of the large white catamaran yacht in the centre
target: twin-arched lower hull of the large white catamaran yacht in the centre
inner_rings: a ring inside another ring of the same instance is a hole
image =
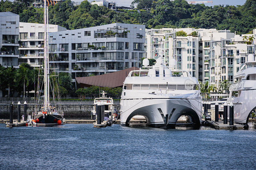
[[[182,115],[188,115],[193,126],[199,128],[201,119],[201,100],[186,99],[133,99],[121,100],[120,119],[122,126],[129,126],[135,115],[146,118],[149,126],[158,128],[175,128]]]

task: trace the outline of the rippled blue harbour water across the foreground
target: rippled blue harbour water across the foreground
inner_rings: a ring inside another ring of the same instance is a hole
[[[6,128],[0,169],[256,169],[256,130],[92,124]]]

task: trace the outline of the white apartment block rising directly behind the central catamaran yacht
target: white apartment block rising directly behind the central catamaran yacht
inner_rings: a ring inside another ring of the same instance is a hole
[[[169,58],[174,58],[177,61],[177,69],[186,70],[192,76],[201,80],[201,37],[176,36],[176,32],[181,30],[185,31],[187,34],[195,31],[194,28],[146,29],[146,56],[147,58],[155,58],[155,56],[159,54],[159,48],[164,48],[163,55],[167,65],[169,63]]]

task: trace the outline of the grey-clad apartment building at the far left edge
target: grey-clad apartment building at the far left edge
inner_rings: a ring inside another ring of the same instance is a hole
[[[19,68],[19,22],[20,16],[12,12],[0,12],[0,64]]]

